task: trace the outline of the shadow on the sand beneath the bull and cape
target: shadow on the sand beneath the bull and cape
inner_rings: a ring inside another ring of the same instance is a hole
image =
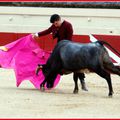
[[[89,96],[91,96],[91,97],[97,97],[97,98],[109,98],[109,97],[107,97],[107,96],[104,96],[104,95],[99,95],[99,94],[96,94],[96,93],[93,93],[93,92],[90,92],[90,91],[79,91],[79,93],[78,94],[73,94],[72,92],[71,92],[71,90],[72,89],[68,89],[68,88],[66,88],[66,89],[59,89],[59,88],[55,88],[55,89],[51,89],[51,90],[46,90],[46,91],[41,91],[41,90],[39,90],[39,89],[35,89],[35,88],[23,88],[23,87],[21,87],[21,88],[16,88],[16,87],[0,87],[0,89],[8,89],[8,90],[10,90],[11,92],[12,91],[15,91],[15,92],[25,92],[25,94],[26,94],[26,92],[30,92],[30,93],[36,93],[36,94],[46,94],[46,96],[47,96],[47,94],[52,94],[52,95],[60,95],[60,96],[71,96],[71,97],[85,97],[85,98],[87,98],[87,97],[89,97]]]

